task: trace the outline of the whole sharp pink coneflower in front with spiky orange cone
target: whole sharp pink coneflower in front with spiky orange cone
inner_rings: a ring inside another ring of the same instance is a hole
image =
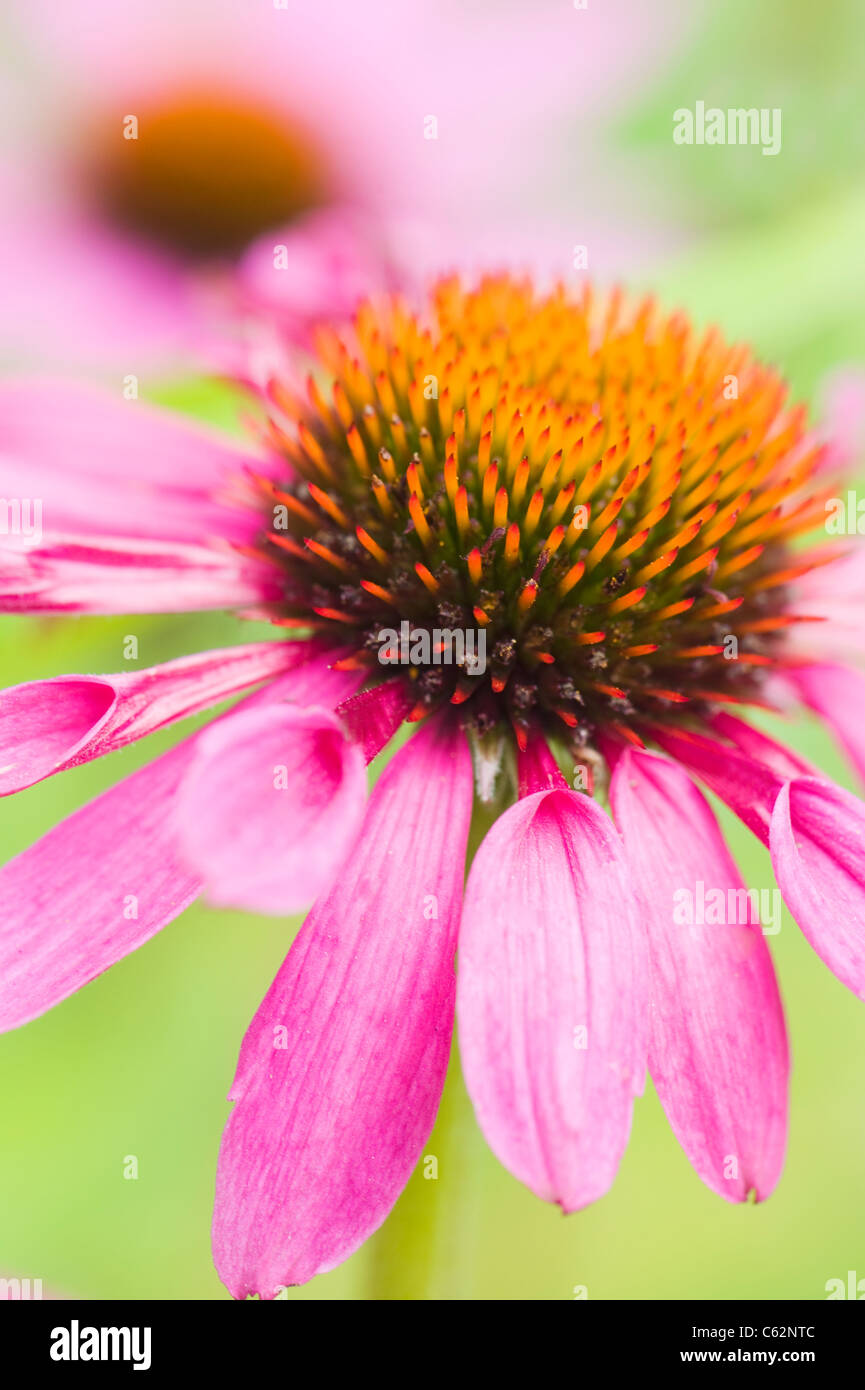
[[[6,555],[3,609],[234,603],[293,637],[0,696],[11,792],[259,687],[0,873],[3,1026],[197,892],[317,895],[231,1091],[214,1252],[236,1297],[384,1220],[455,1008],[480,1126],[540,1197],[609,1188],[648,1065],[700,1177],[765,1198],[789,1081],[766,935],[676,902],[747,901],[702,781],[865,997],[865,808],[741,713],[801,664],[823,446],[745,348],[619,292],[446,279],[317,353],[306,398],[271,384],[257,456],[92,392],[3,391],[3,489],[39,480],[46,518]],[[364,805],[363,760],[406,721]],[[498,815],[463,892],[473,783]]]

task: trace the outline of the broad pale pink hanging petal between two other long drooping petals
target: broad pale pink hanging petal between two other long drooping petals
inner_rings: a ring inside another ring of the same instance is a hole
[[[642,1090],[645,942],[622,842],[588,796],[541,791],[471,865],[458,1016],[490,1147],[565,1211],[616,1176]]]

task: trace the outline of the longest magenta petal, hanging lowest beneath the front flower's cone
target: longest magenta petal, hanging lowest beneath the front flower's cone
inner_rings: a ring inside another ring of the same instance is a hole
[[[346,1259],[420,1156],[451,1049],[470,815],[463,738],[421,728],[243,1038],[213,1225],[236,1298]]]

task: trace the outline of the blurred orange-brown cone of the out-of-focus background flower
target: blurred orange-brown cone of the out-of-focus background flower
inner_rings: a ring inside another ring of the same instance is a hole
[[[99,146],[96,197],[124,229],[184,256],[236,254],[327,197],[306,133],[266,110],[188,95],[135,122]]]

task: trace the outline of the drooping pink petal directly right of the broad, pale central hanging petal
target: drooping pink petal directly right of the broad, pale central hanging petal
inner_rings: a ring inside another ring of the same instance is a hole
[[[787,1136],[787,1033],[769,947],[747,899],[727,897],[744,884],[687,773],[627,749],[611,802],[648,929],[649,1070],[661,1104],[708,1187],[727,1201],[751,1190],[762,1200]],[[723,894],[725,916],[734,903],[733,923],[697,920],[712,891]]]

